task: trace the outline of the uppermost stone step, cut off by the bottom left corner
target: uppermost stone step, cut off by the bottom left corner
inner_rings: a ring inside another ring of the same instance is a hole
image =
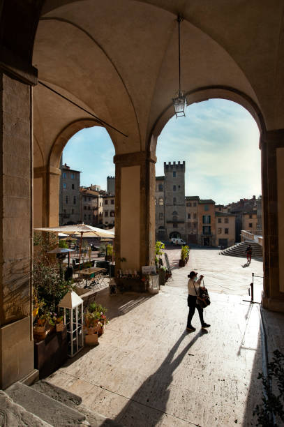
[[[51,424],[27,411],[22,405],[15,403],[2,390],[0,390],[0,426],[52,427]]]

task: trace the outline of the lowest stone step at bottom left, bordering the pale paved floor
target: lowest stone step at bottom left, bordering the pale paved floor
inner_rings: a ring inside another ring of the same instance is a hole
[[[80,396],[70,393],[70,391],[61,389],[51,382],[40,380],[31,387],[40,393],[43,393],[46,396],[50,396],[50,398],[63,403],[64,405],[77,408],[78,411],[85,415],[86,421],[91,427],[121,427],[121,424],[118,424],[116,421],[112,421],[112,419],[106,418],[83,405],[82,398]]]

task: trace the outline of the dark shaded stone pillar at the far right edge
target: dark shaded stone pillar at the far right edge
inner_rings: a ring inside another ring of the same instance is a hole
[[[262,133],[262,304],[284,312],[284,130]]]

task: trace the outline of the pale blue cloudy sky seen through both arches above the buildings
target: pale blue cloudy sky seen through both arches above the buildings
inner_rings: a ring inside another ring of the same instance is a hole
[[[156,175],[163,163],[186,161],[186,195],[227,204],[261,194],[259,130],[243,107],[228,100],[190,105],[186,117],[172,117],[158,138]],[[86,154],[88,155],[86,156]],[[81,185],[106,188],[114,175],[114,147],[105,128],[74,135],[63,163],[80,170]]]

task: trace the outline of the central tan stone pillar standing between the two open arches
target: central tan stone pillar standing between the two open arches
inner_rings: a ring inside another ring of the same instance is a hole
[[[156,156],[138,151],[114,156],[114,163],[116,269],[140,271],[155,258]]]

